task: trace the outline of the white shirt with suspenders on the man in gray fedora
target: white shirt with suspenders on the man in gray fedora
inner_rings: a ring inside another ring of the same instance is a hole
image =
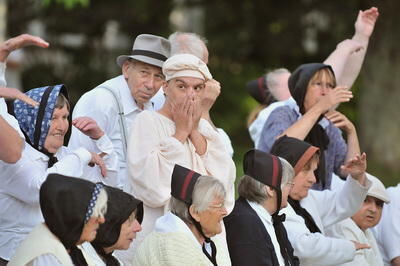
[[[128,84],[122,75],[107,80],[93,90],[90,90],[82,95],[75,105],[72,118],[75,119],[81,116],[91,117],[110,138],[114,146],[114,150],[118,156],[118,184],[116,184],[116,186],[119,188],[124,188],[126,192],[130,193],[131,189],[129,187],[129,183],[126,182],[128,180],[128,173],[126,169],[126,158],[124,156],[122,134],[119,125],[118,105],[115,102],[111,92],[104,88],[99,88],[102,86],[111,88],[117,96],[120,96],[121,105],[124,109],[124,117],[126,119],[126,130],[129,135],[131,125],[136,116],[142,112],[142,109],[137,106],[129,90]],[[144,109],[153,110],[151,102],[146,103],[144,105]],[[85,147],[90,151],[98,152],[96,150],[94,141],[75,128],[72,129],[68,146],[72,149]]]

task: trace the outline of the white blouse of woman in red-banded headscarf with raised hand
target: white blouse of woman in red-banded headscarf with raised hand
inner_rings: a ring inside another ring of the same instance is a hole
[[[354,243],[325,236],[325,228],[356,213],[370,186],[368,179],[366,185],[361,186],[349,176],[340,191],[309,190],[300,205],[310,213],[321,233],[311,233],[303,217],[297,215],[290,204],[281,210],[286,214],[284,225],[301,265],[338,265],[353,260]]]

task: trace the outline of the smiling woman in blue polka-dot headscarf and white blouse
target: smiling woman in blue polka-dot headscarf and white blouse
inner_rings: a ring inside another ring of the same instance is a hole
[[[20,100],[13,103],[13,112],[26,143],[21,159],[15,164],[3,166],[0,173],[4,184],[0,187],[0,258],[6,261],[33,227],[43,221],[39,208],[39,189],[49,173],[100,181],[102,177],[86,174],[91,172],[88,171],[88,164],[95,163],[103,167],[105,174],[105,163],[98,154],[84,148],[72,151],[63,146],[70,124],[66,87],[55,85],[35,88],[26,92],[26,95],[38,102],[39,106],[33,107]],[[89,118],[79,121],[91,121],[91,130],[82,130],[94,138],[99,137],[101,129],[94,121]],[[117,158],[107,141],[111,145],[107,136],[99,138],[99,149],[108,154],[105,157],[107,167],[113,167],[112,162],[117,163]],[[114,175],[110,171],[106,180],[113,178],[110,174]]]

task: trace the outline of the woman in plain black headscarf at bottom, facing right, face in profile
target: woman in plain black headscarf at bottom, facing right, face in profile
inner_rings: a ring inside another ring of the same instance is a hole
[[[106,186],[108,195],[106,222],[100,225],[96,239],[82,244],[87,261],[96,266],[118,266],[114,250],[126,250],[142,230],[143,203],[120,189]],[[89,264],[90,265],[90,264]]]

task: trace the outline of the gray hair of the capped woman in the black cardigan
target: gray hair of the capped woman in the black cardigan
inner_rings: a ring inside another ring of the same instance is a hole
[[[294,169],[285,159],[278,157],[282,164],[282,180],[281,180],[281,190],[283,187],[293,180]],[[263,203],[268,199],[268,194],[265,190],[266,185],[260,181],[252,178],[251,176],[244,175],[238,185],[238,193],[241,197],[257,202],[258,204]]]

